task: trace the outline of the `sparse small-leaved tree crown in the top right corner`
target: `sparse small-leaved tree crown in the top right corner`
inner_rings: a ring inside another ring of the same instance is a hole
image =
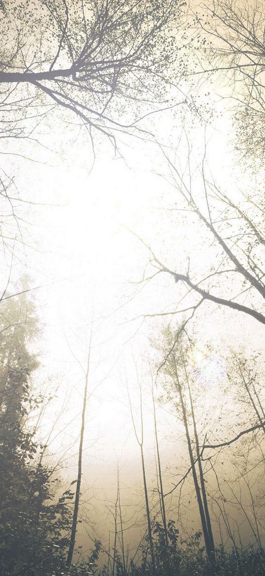
[[[223,80],[229,88],[236,128],[236,149],[250,165],[264,158],[264,4],[217,0],[197,13],[205,33],[205,78]]]

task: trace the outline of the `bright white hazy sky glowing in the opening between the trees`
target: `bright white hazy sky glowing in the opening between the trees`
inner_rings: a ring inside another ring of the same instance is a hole
[[[177,134],[178,120],[174,122],[173,134]],[[166,131],[169,126],[173,123],[167,118]],[[219,119],[216,131],[209,127],[206,132],[210,171],[224,187],[229,183],[231,166],[226,141],[228,127],[228,119],[225,122]],[[60,134],[53,134],[53,149],[60,150],[60,138]],[[169,138],[168,132],[165,139]],[[193,126],[195,157],[202,158],[203,138],[204,128]],[[33,156],[44,164],[13,158],[13,172],[17,175],[21,197],[48,204],[23,205],[25,221],[32,225],[22,223],[29,247],[21,249],[20,260],[14,263],[14,276],[19,278],[26,270],[32,275],[34,286],[45,285],[36,291],[38,313],[44,325],[40,343],[43,367],[39,378],[44,389],[49,381],[54,397],[43,420],[43,434],[49,434],[56,419],[49,450],[57,454],[71,479],[76,473],[84,386],[82,368],[86,365],[94,314],[89,385],[89,394],[93,392],[93,395],[87,409],[84,469],[89,471],[86,486],[91,482],[99,499],[103,499],[107,485],[110,491],[115,490],[117,459],[125,482],[130,476],[132,484],[136,485],[140,478],[139,446],[133,434],[126,391],[127,380],[139,423],[135,365],[144,387],[145,452],[150,483],[155,475],[152,407],[148,393],[151,377],[146,361],[149,354],[153,355],[148,338],[158,336],[160,321],[130,320],[144,313],[172,309],[177,293],[174,282],[164,276],[146,287],[134,283],[143,276],[148,251],[128,229],[151,244],[162,260],[182,271],[187,266],[187,255],[190,255],[194,270],[202,270],[203,274],[211,254],[210,249],[202,251],[190,216],[169,210],[178,205],[178,196],[157,174],[167,170],[159,151],[138,141],[131,141],[130,146],[131,149],[128,142],[124,146],[125,162],[121,158],[114,159],[112,151],[102,145],[93,170],[89,145],[73,137],[69,146],[67,135],[60,154],[33,146],[32,152],[36,155]],[[186,164],[186,151],[182,144],[176,162]],[[194,181],[199,192],[201,184],[197,177]],[[224,366],[218,351],[209,359],[205,342],[212,339],[215,344],[220,343],[220,347],[221,344],[226,346],[227,332],[232,328],[233,320],[225,329],[223,320],[223,312],[205,308],[205,318],[198,327],[201,346],[193,361],[199,365],[198,378],[205,385],[202,397],[206,408],[219,397],[218,384],[224,379]],[[252,324],[247,323],[245,332],[241,329],[243,343],[248,339],[249,326]],[[240,320],[239,329],[242,327]],[[233,344],[237,342],[238,334],[232,329],[230,332]],[[258,339],[259,329],[257,332]],[[183,465],[178,448],[182,446],[180,427],[175,416],[167,410],[168,407],[158,408],[163,465],[166,466],[171,458]],[[171,486],[171,478],[168,482]]]

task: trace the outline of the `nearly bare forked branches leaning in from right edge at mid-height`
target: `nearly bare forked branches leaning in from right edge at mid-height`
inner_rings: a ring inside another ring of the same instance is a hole
[[[143,282],[149,282],[162,272],[174,279],[177,290],[179,288],[178,300],[183,302],[186,297],[189,305],[176,305],[172,312],[167,312],[168,315],[186,313],[190,310],[193,317],[203,304],[209,305],[209,302],[212,302],[226,309],[247,314],[259,323],[265,324],[265,230],[262,191],[256,191],[251,197],[249,191],[236,190],[237,200],[235,200],[234,190],[234,194],[221,190],[214,176],[208,175],[206,144],[200,160],[193,158],[188,139],[186,145],[188,157],[184,162],[180,157],[179,164],[176,160],[176,150],[172,150],[172,154],[163,150],[168,162],[166,177],[176,192],[175,206],[169,210],[172,214],[176,214],[176,223],[179,223],[178,214],[185,211],[188,213],[186,219],[190,225],[190,240],[194,242],[196,238],[197,248],[199,244],[201,245],[201,255],[205,254],[203,266],[198,266],[192,253],[189,254],[186,250],[186,270],[183,268],[179,270],[178,266],[170,267],[138,237],[151,254],[150,263],[152,269],[156,270],[152,276],[147,273]],[[199,169],[193,168],[193,162],[194,165],[196,162],[197,166],[200,162]],[[178,260],[183,259],[181,251],[180,256]],[[191,262],[194,263],[194,272],[191,269]],[[202,258],[200,262],[202,264]],[[192,299],[190,294],[193,296]]]

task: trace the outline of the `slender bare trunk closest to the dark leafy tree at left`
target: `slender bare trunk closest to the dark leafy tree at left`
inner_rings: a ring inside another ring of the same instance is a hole
[[[88,386],[88,382],[89,382],[91,339],[92,339],[92,329],[91,329],[91,333],[90,333],[89,351],[88,351],[88,355],[87,355],[87,369],[86,369],[86,373],[85,373],[85,388],[84,388],[84,395],[83,395],[83,410],[82,410],[79,453],[78,453],[78,477],[77,477],[77,482],[76,482],[75,505],[74,505],[74,513],[72,516],[72,529],[71,529],[70,544],[69,544],[69,550],[68,550],[67,560],[66,560],[66,567],[67,568],[70,568],[70,566],[71,566],[72,555],[74,554],[74,548],[75,548],[75,534],[76,534],[76,526],[77,526],[77,519],[78,519],[80,487],[81,487],[81,478],[82,478],[83,441],[84,441],[85,416],[86,416],[86,405],[87,405],[87,386]]]

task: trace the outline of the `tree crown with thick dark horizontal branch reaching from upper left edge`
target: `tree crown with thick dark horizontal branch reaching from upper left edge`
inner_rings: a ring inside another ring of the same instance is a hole
[[[10,137],[25,135],[25,113],[36,116],[31,107],[41,115],[55,105],[113,143],[117,131],[134,131],[141,116],[164,102],[183,5],[3,0],[0,84]]]

